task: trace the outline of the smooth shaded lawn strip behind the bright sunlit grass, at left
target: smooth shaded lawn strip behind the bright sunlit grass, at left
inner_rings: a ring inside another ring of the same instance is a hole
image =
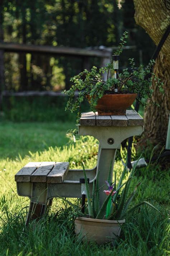
[[[0,123],[0,158],[22,157],[48,147],[62,147],[68,143],[67,130],[74,128],[74,123],[68,122],[26,122]]]

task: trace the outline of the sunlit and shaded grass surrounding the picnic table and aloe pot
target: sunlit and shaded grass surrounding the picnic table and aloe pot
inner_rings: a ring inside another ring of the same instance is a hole
[[[16,171],[29,161],[69,161],[71,168],[80,167],[81,161],[86,168],[96,163],[98,142],[84,136],[68,143],[68,128],[68,122],[1,123],[0,255],[168,255],[169,172],[154,164],[136,170],[132,190],[139,182],[141,186],[132,205],[151,202],[165,217],[147,206],[140,207],[126,217],[114,246],[82,243],[76,238],[72,208],[60,199],[54,200],[49,214],[38,224],[32,223],[23,231],[29,199],[17,196]],[[120,160],[114,168],[119,175],[123,168]]]

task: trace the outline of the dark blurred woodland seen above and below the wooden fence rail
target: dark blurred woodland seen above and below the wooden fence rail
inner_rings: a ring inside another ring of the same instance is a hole
[[[36,45],[71,46],[78,48],[104,45],[117,46],[123,31],[128,30],[127,50],[121,65],[129,57],[147,64],[153,43],[134,21],[132,0],[118,9],[112,0],[2,0],[0,1],[0,40]],[[139,51],[141,50],[141,51]],[[142,59],[141,53],[145,55]],[[5,53],[6,90],[59,90],[70,86],[70,77],[82,71],[81,58],[50,55]],[[93,62],[93,63],[92,63]],[[99,66],[90,59],[91,66]]]

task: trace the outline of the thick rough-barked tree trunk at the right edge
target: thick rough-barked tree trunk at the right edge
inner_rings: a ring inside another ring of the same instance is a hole
[[[165,0],[133,0],[135,6],[135,21],[149,34],[156,45],[159,44],[162,35],[169,26],[169,8]],[[156,59],[154,73],[164,83],[165,94],[161,94],[152,83],[154,93],[152,99],[160,104],[156,107],[151,103],[145,109],[145,138],[150,138],[154,145],[165,145],[167,125],[170,113],[170,35],[167,37]]]

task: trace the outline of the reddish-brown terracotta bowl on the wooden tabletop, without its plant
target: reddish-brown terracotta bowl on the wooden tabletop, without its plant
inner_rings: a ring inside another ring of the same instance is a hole
[[[96,111],[98,115],[125,115],[126,109],[129,108],[137,94],[105,94],[98,100],[96,105]],[[90,95],[87,95],[87,99],[90,102]]]

